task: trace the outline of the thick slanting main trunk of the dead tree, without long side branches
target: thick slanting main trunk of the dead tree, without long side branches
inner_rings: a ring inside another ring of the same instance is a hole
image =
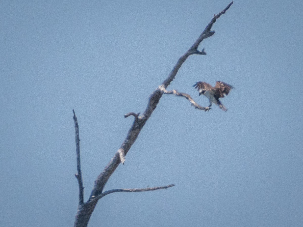
[[[174,80],[178,70],[182,66],[183,62],[192,54],[206,54],[204,49],[202,51],[198,51],[199,44],[205,39],[210,37],[215,33],[215,31],[211,31],[212,25],[215,23],[215,21],[224,14],[229,7],[232,5],[233,2],[228,4],[228,6],[215,15],[211,22],[206,26],[204,31],[201,33],[199,38],[195,41],[195,43],[188,49],[188,51],[183,54],[173,69],[171,70],[168,77],[163,81],[163,83],[160,85],[164,89],[168,87],[168,85]],[[115,153],[114,157],[110,160],[108,165],[105,167],[103,172],[97,177],[94,183],[94,187],[92,189],[92,193],[88,199],[87,202],[85,202],[82,205],[78,206],[78,212],[76,214],[76,221],[74,226],[87,226],[88,220],[98,202],[98,199],[100,195],[102,195],[102,191],[104,189],[105,184],[107,183],[109,177],[112,175],[112,173],[115,171],[115,169],[119,166],[120,163],[124,163],[125,156],[128,152],[128,150],[131,148],[133,143],[138,137],[138,134],[142,130],[143,126],[145,125],[148,118],[151,116],[152,112],[157,107],[157,104],[159,103],[160,98],[162,97],[163,91],[156,89],[149,97],[148,105],[144,111],[144,113],[141,116],[136,116],[135,113],[128,113],[125,116],[128,117],[130,115],[134,116],[134,122],[132,123],[131,128],[129,129],[127,136],[125,140],[123,141],[121,147],[118,149],[118,151]],[[202,107],[203,108],[203,107]]]

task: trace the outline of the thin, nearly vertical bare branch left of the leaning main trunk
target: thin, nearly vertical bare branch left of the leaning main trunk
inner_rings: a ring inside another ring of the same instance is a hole
[[[76,137],[76,153],[77,153],[77,171],[78,173],[75,174],[75,177],[78,180],[79,184],[79,205],[83,204],[83,194],[84,194],[84,187],[82,182],[82,171],[81,171],[81,163],[80,163],[80,138],[79,138],[79,125],[78,120],[75,114],[75,110],[73,110],[74,113],[74,122],[75,122],[75,137]]]

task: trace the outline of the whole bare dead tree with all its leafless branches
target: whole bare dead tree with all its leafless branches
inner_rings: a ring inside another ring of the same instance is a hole
[[[169,187],[174,186],[174,184],[161,186],[161,187],[154,187],[154,188],[142,188],[142,189],[112,189],[103,192],[104,186],[106,182],[108,181],[109,177],[112,175],[112,173],[115,171],[115,169],[118,167],[120,163],[124,164],[125,162],[125,155],[135,142],[135,140],[138,137],[138,134],[140,133],[141,129],[145,125],[148,118],[151,116],[151,113],[155,110],[157,107],[157,104],[159,103],[160,98],[162,97],[162,94],[175,94],[177,96],[185,97],[187,100],[190,101],[191,105],[199,110],[207,110],[207,107],[201,107],[198,105],[190,95],[178,92],[177,90],[171,90],[168,91],[166,88],[168,85],[175,79],[175,76],[180,69],[181,65],[185,60],[192,54],[201,54],[205,55],[204,48],[199,51],[198,46],[199,44],[205,39],[212,35],[214,35],[215,31],[211,30],[212,25],[216,22],[216,20],[224,14],[229,7],[232,5],[233,2],[229,3],[228,6],[218,13],[217,15],[214,15],[214,17],[211,19],[211,22],[206,26],[204,31],[201,33],[199,38],[195,41],[195,43],[189,48],[188,51],[186,51],[185,54],[179,58],[177,64],[173,67],[168,77],[163,81],[163,83],[158,86],[158,88],[155,89],[155,91],[150,95],[148,105],[142,115],[140,113],[126,113],[124,117],[133,116],[134,122],[129,129],[127,136],[122,143],[119,150],[115,153],[114,157],[110,160],[108,165],[105,167],[102,173],[97,177],[95,180],[94,187],[92,189],[91,195],[88,198],[87,202],[84,202],[83,199],[83,182],[82,182],[82,173],[81,173],[81,165],[80,165],[80,139],[79,139],[79,126],[78,126],[78,120],[74,113],[74,122],[75,122],[75,137],[76,137],[76,153],[77,153],[77,170],[78,173],[75,174],[76,178],[78,179],[78,185],[79,185],[79,204],[78,204],[78,211],[75,217],[75,224],[74,227],[86,227],[88,225],[88,221],[92,215],[92,212],[95,209],[95,206],[99,199],[101,199],[103,196],[106,196],[108,194],[114,193],[114,192],[145,192],[145,191],[152,191],[152,190],[158,190],[158,189],[167,189]]]

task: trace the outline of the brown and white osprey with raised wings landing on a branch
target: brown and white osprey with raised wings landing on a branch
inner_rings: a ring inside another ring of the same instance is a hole
[[[219,98],[224,98],[224,95],[228,95],[229,91],[234,87],[221,81],[217,81],[215,87],[212,87],[206,82],[197,82],[194,84],[195,89],[198,88],[199,95],[204,94],[209,100],[209,106],[205,111],[211,109],[211,104],[217,104],[222,110],[227,111],[226,107],[222,105]]]

